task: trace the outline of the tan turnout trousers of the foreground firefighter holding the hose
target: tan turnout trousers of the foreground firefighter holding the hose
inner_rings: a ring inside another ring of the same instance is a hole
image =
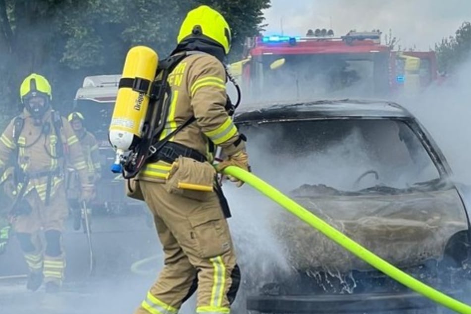
[[[154,215],[164,266],[135,314],[176,314],[197,291],[197,313],[230,313],[240,271],[219,199],[170,194],[165,183],[140,181]]]

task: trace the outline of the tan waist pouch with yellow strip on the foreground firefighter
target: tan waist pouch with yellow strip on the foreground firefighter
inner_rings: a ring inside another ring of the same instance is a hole
[[[165,189],[168,193],[206,201],[214,193],[216,170],[209,162],[178,157],[168,172]]]

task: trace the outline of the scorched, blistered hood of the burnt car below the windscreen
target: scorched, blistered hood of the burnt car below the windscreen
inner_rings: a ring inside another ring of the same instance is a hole
[[[292,198],[376,255],[400,267],[441,260],[448,240],[468,227],[454,188],[397,195],[317,195],[318,186]],[[313,193],[309,193],[312,189]],[[299,192],[299,191],[298,191]],[[290,264],[300,271],[372,267],[291,214],[272,220]]]

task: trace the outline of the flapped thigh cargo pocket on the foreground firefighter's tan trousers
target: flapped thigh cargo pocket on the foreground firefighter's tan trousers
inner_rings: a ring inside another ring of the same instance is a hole
[[[188,216],[192,229],[190,238],[197,255],[209,259],[231,249],[229,227],[221,212],[202,212]]]

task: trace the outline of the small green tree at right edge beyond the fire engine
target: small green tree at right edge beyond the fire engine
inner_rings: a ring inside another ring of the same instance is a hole
[[[452,72],[458,64],[471,57],[471,23],[463,22],[454,37],[444,38],[435,45],[435,52],[440,72]]]

